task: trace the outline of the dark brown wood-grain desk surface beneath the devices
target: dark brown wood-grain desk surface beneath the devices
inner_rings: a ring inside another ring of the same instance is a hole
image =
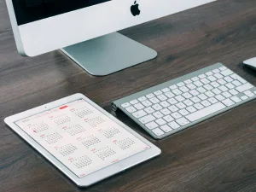
[[[117,113],[162,154],[88,189],[76,187],[4,125],[9,115],[77,92],[110,112],[113,100],[218,61],[256,85],[256,73],[240,65],[256,56],[255,0],[219,0],[122,33],[159,56],[107,77],[92,77],[60,51],[35,58],[18,55],[5,1],[0,0],[0,190],[256,191],[256,101],[160,141]]]

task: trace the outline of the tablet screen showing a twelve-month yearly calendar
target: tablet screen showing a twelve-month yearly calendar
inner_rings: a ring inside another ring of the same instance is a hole
[[[84,99],[15,124],[78,177],[150,148]]]

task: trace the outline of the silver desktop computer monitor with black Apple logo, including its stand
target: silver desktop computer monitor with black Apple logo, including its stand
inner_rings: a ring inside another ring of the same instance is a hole
[[[61,49],[88,73],[107,75],[156,57],[121,29],[215,0],[6,0],[20,55]]]

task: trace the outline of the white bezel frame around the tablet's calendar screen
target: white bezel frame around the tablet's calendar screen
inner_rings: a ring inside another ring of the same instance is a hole
[[[38,144],[32,137],[26,134],[25,131],[22,131],[19,126],[15,125],[15,122],[20,119],[26,119],[27,117],[30,117],[32,115],[35,115],[37,113],[43,113],[45,110],[49,110],[51,108],[57,108],[59,106],[65,105],[68,102],[73,102],[79,99],[84,99],[86,102],[89,102],[90,105],[95,107],[97,110],[101,111],[105,115],[108,116],[108,118],[115,121],[117,124],[121,125],[126,131],[129,131],[132,135],[143,141],[143,143],[146,143],[150,148],[147,150],[139,153],[134,154],[129,158],[126,158],[125,160],[120,160],[119,162],[116,162],[115,164],[111,166],[107,166],[105,168],[102,168],[101,170],[97,172],[90,173],[88,176],[79,178],[76,176],[73,172],[71,172],[67,166],[64,166],[61,161],[57,160],[55,156],[50,154],[45,148],[43,148],[40,144]],[[104,109],[97,106],[94,102],[90,101],[86,96],[82,94],[75,94],[73,96],[67,96],[65,98],[62,98],[60,100],[57,100],[55,102],[49,102],[48,104],[45,104],[43,106],[40,106],[38,108],[32,108],[30,110],[27,110],[22,113],[15,114],[13,116],[10,116],[6,119],[4,119],[4,122],[9,125],[9,127],[14,130],[17,134],[20,135],[27,143],[32,145],[33,148],[36,148],[40,154],[43,154],[44,157],[49,160],[53,165],[55,165],[61,172],[63,172],[67,177],[69,177],[74,183],[76,183],[79,187],[87,187],[90,186],[93,183],[99,182],[102,179],[105,179],[107,177],[113,176],[114,174],[117,174],[119,172],[123,172],[126,169],[130,168],[131,166],[136,166],[139,163],[142,163],[143,161],[152,159],[153,157],[159,155],[161,153],[160,148],[155,147],[152,143],[149,143],[145,138],[137,134],[137,132],[132,131],[131,128],[129,128],[127,125],[123,124],[119,119],[116,119],[105,111]]]

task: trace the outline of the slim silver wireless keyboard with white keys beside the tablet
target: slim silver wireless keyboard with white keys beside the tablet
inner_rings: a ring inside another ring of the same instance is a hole
[[[256,88],[223,64],[156,85],[112,103],[161,139],[253,100]]]

